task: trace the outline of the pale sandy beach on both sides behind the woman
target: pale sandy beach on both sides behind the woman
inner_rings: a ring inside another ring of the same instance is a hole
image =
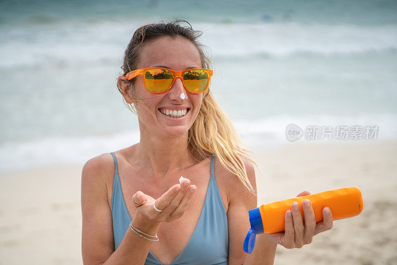
[[[285,143],[256,150],[258,204],[360,188],[359,216],[334,222],[302,249],[277,248],[276,265],[397,264],[397,142]],[[82,264],[82,164],[0,175],[0,264]]]

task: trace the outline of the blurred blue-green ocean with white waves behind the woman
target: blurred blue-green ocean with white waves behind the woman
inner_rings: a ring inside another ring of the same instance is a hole
[[[174,18],[203,32],[210,89],[248,147],[288,143],[289,124],[396,139],[395,0],[1,1],[0,172],[138,142],[116,89],[124,50],[139,26]]]

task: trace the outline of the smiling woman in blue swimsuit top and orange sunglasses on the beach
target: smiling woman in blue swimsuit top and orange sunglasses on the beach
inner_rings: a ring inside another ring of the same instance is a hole
[[[300,248],[332,226],[329,208],[316,226],[310,203],[304,224],[292,207],[285,233],[243,252],[253,161],[208,89],[199,32],[180,22],[142,26],[126,49],[118,88],[140,142],[83,167],[84,264],[272,264],[277,244]]]

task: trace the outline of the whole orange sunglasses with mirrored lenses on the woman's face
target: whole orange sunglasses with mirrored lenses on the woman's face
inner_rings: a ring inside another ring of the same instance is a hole
[[[167,92],[170,90],[177,77],[179,77],[186,91],[192,94],[200,94],[208,89],[212,70],[193,68],[183,71],[174,71],[167,68],[152,67],[133,70],[127,73],[126,77],[128,80],[131,80],[138,74],[143,76],[145,89],[151,93],[161,94]]]

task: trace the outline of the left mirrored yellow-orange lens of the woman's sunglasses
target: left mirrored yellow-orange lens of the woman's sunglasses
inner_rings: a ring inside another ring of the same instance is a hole
[[[152,92],[164,92],[172,83],[172,72],[165,69],[150,69],[145,74],[146,89]]]

